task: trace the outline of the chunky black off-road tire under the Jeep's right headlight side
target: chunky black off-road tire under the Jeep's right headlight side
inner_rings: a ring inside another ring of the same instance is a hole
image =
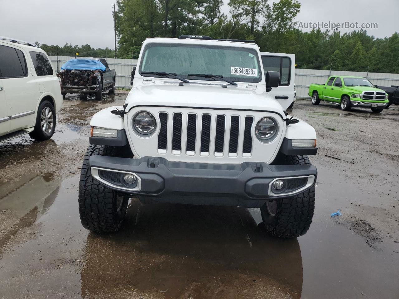
[[[306,156],[286,156],[285,165],[310,165]],[[267,201],[261,216],[269,234],[282,238],[304,235],[312,223],[314,187],[296,196]]]

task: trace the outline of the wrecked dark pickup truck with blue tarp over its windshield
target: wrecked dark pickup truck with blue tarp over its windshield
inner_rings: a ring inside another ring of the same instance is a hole
[[[101,100],[103,92],[115,92],[115,69],[109,69],[107,61],[99,59],[69,59],[57,74],[61,94],[79,93],[82,96],[95,94]]]

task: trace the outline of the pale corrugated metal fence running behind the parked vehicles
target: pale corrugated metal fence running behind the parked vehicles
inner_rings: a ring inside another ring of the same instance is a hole
[[[53,63],[54,69],[58,71],[66,61],[72,58],[75,57],[50,56],[50,60],[51,63]],[[130,75],[132,73],[133,66],[137,65],[137,59],[107,58],[107,63],[111,69],[115,69],[115,73],[117,75],[117,87],[130,89]],[[310,98],[308,95],[310,84],[325,83],[328,77],[334,75],[366,77],[371,81],[371,83],[380,86],[399,85],[399,74],[295,69],[296,97]]]

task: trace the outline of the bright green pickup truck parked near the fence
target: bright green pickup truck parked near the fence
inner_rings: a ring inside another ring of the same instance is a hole
[[[342,110],[352,107],[371,108],[373,112],[381,112],[388,104],[388,94],[371,84],[366,78],[353,76],[332,76],[326,84],[311,84],[309,96],[312,104],[318,105],[320,100],[340,105]]]

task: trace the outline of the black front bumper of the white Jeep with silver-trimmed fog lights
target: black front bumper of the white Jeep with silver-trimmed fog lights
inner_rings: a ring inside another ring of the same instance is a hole
[[[292,196],[314,186],[317,177],[317,169],[312,165],[267,165],[263,162],[210,164],[174,162],[159,157],[91,156],[89,166],[93,177],[111,189],[151,197],[280,198],[287,195],[271,195],[269,185],[273,180],[285,178],[288,183],[296,177],[307,178],[300,188],[290,189]],[[139,179],[128,185],[123,180],[125,173],[133,173]]]

